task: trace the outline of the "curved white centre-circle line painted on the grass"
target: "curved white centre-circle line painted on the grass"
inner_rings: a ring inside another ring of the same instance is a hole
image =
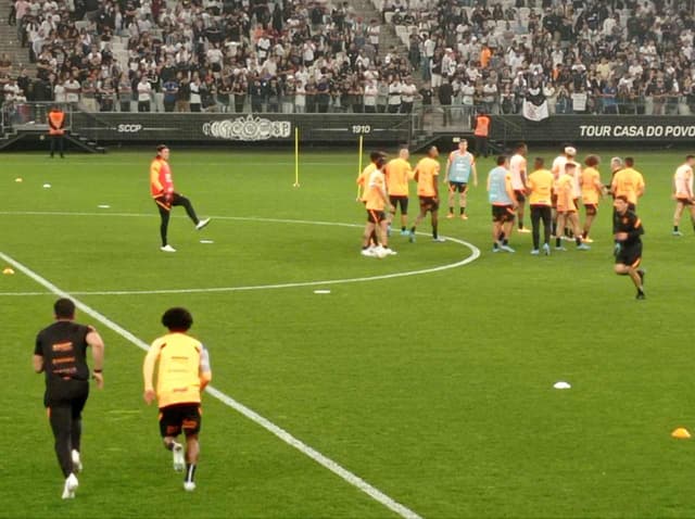
[[[123,217],[152,217],[153,215],[136,214],[136,213],[61,213],[61,212],[0,212],[0,215],[27,215],[27,216],[123,216]],[[184,217],[182,215],[179,217]],[[301,225],[321,225],[331,227],[362,227],[357,224],[340,224],[334,221],[312,221],[300,219],[282,219],[282,218],[260,218],[254,216],[214,216],[214,219],[229,219],[229,220],[247,220],[247,221],[262,221],[262,223],[277,223],[277,224],[301,224]],[[418,235],[426,235],[425,232],[418,232]],[[429,235],[427,235],[429,236]],[[458,243],[470,249],[471,254],[468,257],[447,265],[441,265],[438,267],[424,268],[420,270],[409,270],[405,273],[383,274],[379,276],[368,276],[361,278],[346,278],[346,279],[328,279],[323,281],[300,281],[294,283],[276,283],[276,284],[256,284],[247,287],[213,287],[213,288],[190,288],[190,289],[159,289],[159,290],[110,290],[110,291],[73,291],[74,295],[161,295],[161,294],[181,294],[181,293],[225,293],[225,292],[244,292],[252,290],[275,290],[275,289],[291,289],[301,287],[317,287],[328,284],[343,284],[343,283],[358,283],[367,281],[378,281],[382,279],[403,278],[409,276],[420,276],[424,274],[439,273],[442,270],[448,270],[450,268],[463,267],[469,263],[475,262],[480,257],[480,250],[475,245],[458,240],[457,238],[446,238],[448,241]],[[0,292],[0,296],[23,296],[23,295],[46,295],[45,292]]]

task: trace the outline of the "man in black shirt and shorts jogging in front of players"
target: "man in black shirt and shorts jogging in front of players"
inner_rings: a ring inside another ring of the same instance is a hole
[[[628,198],[616,197],[614,202],[616,212],[612,218],[612,232],[616,239],[616,274],[630,276],[637,289],[636,299],[643,300],[644,270],[639,268],[642,263],[642,239],[644,228],[640,217],[628,208]]]

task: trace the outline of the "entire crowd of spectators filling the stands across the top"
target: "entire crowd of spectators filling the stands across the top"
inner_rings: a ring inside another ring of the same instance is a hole
[[[695,113],[692,1],[16,0],[5,104],[88,111]],[[471,5],[468,5],[471,3]],[[383,26],[406,52],[380,48]],[[418,86],[419,85],[419,86]]]

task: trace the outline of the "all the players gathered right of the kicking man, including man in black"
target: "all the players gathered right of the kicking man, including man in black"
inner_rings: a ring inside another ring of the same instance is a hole
[[[528,148],[519,143],[510,156],[501,155],[488,174],[488,198],[492,207],[492,252],[514,253],[509,240],[514,223],[518,232],[531,233],[533,255],[551,255],[551,251],[567,251],[565,240],[574,241],[577,250],[591,249],[592,225],[603,198],[610,194],[614,200],[615,271],[627,275],[637,289],[637,299],[644,299],[644,270],[642,262],[642,223],[636,216],[636,206],[644,194],[643,175],[634,168],[634,159],[612,157],[611,179],[604,185],[598,172],[599,157],[587,155],[583,164],[577,160],[577,150],[567,145],[553,161],[549,169],[542,157],[535,157],[531,170],[527,166]],[[362,254],[368,257],[386,257],[396,254],[389,246],[389,237],[396,211],[401,212],[401,235],[416,240],[416,229],[430,214],[432,240],[444,241],[439,236],[440,163],[439,150],[432,145],[417,165],[408,163],[407,148],[399,156],[387,160],[383,152],[372,152],[369,165],[357,177],[357,200],[365,204],[367,225],[363,235]],[[688,155],[674,176],[673,233],[682,236],[679,221],[685,207],[691,211],[695,227],[695,200],[693,198],[692,166],[695,157]],[[408,229],[408,182],[417,183],[419,214]],[[448,155],[443,183],[447,187],[447,218],[458,216],[467,219],[467,192],[472,182],[478,185],[475,156],[468,151],[468,142],[459,139],[458,147]],[[529,204],[531,229],[525,227],[526,204]],[[458,215],[455,206],[458,204]],[[580,208],[584,206],[584,218],[580,221]],[[541,242],[541,224],[543,241]],[[554,246],[551,246],[554,238]]]

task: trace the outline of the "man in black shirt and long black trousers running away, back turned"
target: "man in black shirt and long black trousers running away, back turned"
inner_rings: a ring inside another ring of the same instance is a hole
[[[60,299],[53,305],[55,322],[36,337],[34,370],[46,372],[43,405],[55,438],[55,454],[65,477],[63,499],[75,497],[79,484],[75,472],[81,469],[79,456],[81,412],[89,395],[87,346],[91,346],[91,378],[101,389],[104,383],[104,343],[92,327],[78,325],[75,303]]]

